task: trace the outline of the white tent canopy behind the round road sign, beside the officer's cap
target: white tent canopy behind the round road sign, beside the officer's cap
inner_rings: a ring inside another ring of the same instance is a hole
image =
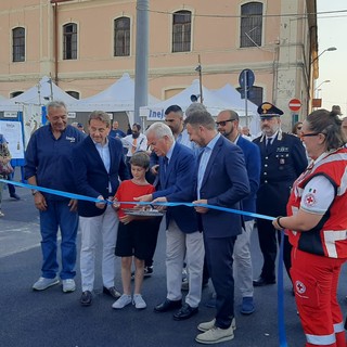
[[[237,112],[239,116],[242,117],[240,119],[240,125],[245,126],[246,105],[245,100],[241,99],[240,92],[234,87],[227,83],[224,87],[214,90],[214,93],[224,102],[229,103],[230,110]],[[257,108],[258,106],[256,104],[247,100],[247,116],[249,117],[248,127],[250,129],[250,133],[254,136],[257,136],[260,132],[260,118],[258,116]]]

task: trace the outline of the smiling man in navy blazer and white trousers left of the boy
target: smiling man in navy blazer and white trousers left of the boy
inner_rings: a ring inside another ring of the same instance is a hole
[[[89,137],[73,152],[74,176],[77,192],[101,201],[112,200],[121,180],[129,179],[120,140],[108,136],[110,116],[94,111],[88,120]],[[103,292],[120,297],[115,288],[115,245],[118,218],[106,203],[78,202],[81,229],[80,272],[82,295],[80,303],[91,305],[94,284],[94,259],[99,234],[102,234]]]

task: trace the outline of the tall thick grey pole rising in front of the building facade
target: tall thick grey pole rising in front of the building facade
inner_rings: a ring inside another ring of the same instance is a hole
[[[141,124],[140,107],[149,103],[149,0],[138,0],[133,119],[139,124]]]

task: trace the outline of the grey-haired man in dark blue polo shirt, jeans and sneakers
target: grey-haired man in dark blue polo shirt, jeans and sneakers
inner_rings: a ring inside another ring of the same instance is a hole
[[[25,178],[29,184],[64,192],[74,192],[72,152],[85,136],[67,125],[67,111],[63,102],[47,105],[49,124],[35,131],[25,153]],[[33,190],[35,206],[40,214],[41,277],[33,290],[43,291],[59,284],[56,234],[61,230],[63,292],[74,292],[76,265],[76,234],[78,228],[77,201]]]

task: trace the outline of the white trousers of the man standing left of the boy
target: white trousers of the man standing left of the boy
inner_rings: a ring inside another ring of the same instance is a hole
[[[118,217],[111,205],[97,217],[79,217],[81,229],[80,274],[82,292],[94,287],[95,248],[102,236],[102,280],[105,287],[115,285],[116,256],[115,246]]]

